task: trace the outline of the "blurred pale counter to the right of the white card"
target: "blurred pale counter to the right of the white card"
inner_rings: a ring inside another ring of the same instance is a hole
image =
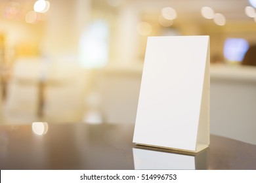
[[[256,67],[211,66],[211,133],[256,144]]]

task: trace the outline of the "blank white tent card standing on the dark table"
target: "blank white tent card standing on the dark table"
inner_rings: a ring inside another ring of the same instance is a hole
[[[148,37],[133,142],[209,146],[209,36]]]

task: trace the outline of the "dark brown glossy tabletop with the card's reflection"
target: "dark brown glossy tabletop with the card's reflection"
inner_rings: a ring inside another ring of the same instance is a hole
[[[225,137],[193,155],[136,146],[134,125],[47,125],[0,125],[0,169],[256,169],[256,146]]]

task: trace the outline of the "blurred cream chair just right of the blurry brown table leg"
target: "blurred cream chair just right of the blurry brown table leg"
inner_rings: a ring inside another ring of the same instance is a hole
[[[45,83],[43,116],[49,122],[82,122],[89,72],[58,63]]]

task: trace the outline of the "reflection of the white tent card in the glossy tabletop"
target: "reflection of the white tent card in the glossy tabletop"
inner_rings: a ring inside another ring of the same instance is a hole
[[[133,148],[135,169],[207,169],[209,149],[197,154],[146,146]]]

